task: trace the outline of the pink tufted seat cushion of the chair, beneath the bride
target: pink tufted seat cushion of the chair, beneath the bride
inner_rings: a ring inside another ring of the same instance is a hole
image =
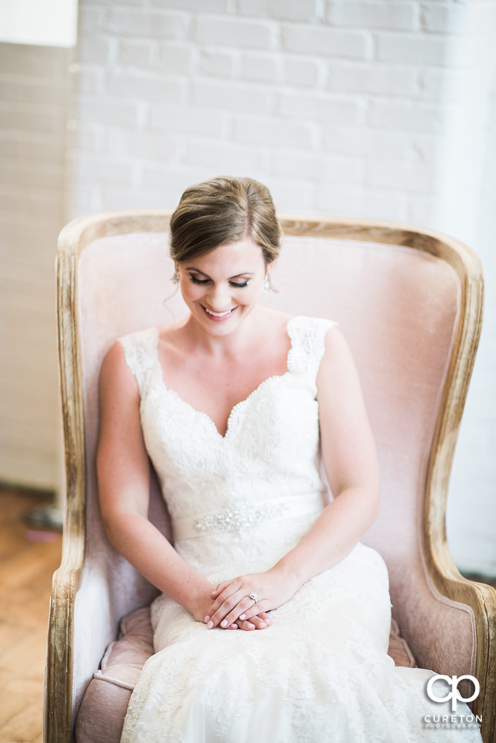
[[[123,617],[118,639],[105,651],[101,667],[94,674],[79,707],[76,743],[120,742],[131,692],[153,652],[150,607],[143,606]],[[388,655],[396,666],[417,667],[394,619],[391,620]]]

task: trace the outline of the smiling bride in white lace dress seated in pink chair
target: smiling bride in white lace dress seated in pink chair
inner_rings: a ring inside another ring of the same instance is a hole
[[[189,314],[118,339],[99,380],[105,530],[161,591],[121,743],[480,742],[422,727],[448,711],[425,695],[434,672],[387,655],[356,368],[336,322],[258,303],[281,244],[267,188],[186,189],[170,239]],[[174,546],[148,519],[149,457]]]

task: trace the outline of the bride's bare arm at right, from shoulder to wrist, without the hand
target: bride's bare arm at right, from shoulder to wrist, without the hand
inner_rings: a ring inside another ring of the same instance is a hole
[[[326,334],[317,375],[322,461],[334,499],[275,568],[300,585],[350,553],[379,516],[379,464],[350,349],[337,328]]]

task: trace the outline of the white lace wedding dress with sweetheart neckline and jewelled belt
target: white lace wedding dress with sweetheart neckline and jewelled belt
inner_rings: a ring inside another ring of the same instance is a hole
[[[290,319],[286,373],[232,409],[225,436],[166,388],[157,328],[119,339],[174,546],[214,585],[272,567],[324,507],[316,374],[334,324]],[[169,597],[154,600],[155,655],[121,743],[482,742],[478,728],[425,729],[424,715],[450,708],[425,694],[434,672],[395,667],[387,655],[388,570],[372,548],[359,542],[270,617],[264,630],[206,629]]]

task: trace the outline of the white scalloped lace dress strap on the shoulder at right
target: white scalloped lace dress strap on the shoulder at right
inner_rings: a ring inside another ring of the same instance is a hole
[[[291,366],[308,377],[315,385],[319,364],[325,350],[325,334],[336,320],[325,317],[307,317],[297,315],[288,323],[287,330],[291,339]]]

